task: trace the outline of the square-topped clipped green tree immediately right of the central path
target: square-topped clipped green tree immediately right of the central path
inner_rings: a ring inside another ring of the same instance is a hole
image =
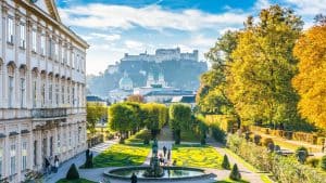
[[[186,104],[172,104],[170,106],[170,127],[174,131],[175,143],[180,143],[181,130],[190,130],[191,108]]]

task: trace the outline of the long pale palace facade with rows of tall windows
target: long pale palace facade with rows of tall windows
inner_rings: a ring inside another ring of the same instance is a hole
[[[87,148],[87,42],[54,0],[0,0],[0,180]]]

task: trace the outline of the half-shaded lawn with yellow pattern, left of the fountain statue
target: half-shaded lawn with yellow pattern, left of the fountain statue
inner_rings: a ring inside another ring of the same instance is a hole
[[[93,158],[93,168],[140,166],[149,152],[146,145],[115,144]]]

